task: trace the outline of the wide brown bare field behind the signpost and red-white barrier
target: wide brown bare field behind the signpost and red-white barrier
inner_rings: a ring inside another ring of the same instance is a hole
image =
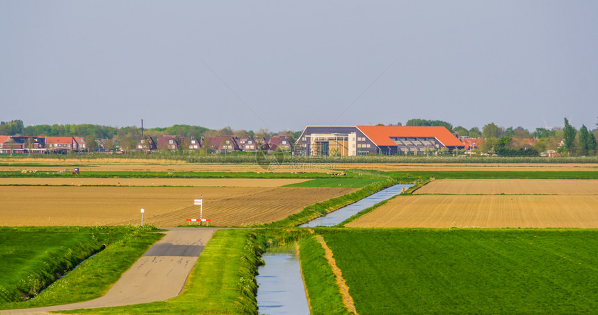
[[[193,199],[204,196],[213,225],[248,225],[284,219],[303,207],[348,194],[349,188],[265,187],[46,187],[0,188],[0,225],[120,225],[159,227],[198,218]]]

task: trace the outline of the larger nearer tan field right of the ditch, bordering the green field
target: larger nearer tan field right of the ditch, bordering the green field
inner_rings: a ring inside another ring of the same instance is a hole
[[[399,196],[352,228],[598,228],[598,195]]]

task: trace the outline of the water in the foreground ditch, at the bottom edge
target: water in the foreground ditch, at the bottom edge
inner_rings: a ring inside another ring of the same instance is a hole
[[[296,255],[264,253],[261,258],[266,265],[258,267],[255,277],[259,314],[309,314]]]

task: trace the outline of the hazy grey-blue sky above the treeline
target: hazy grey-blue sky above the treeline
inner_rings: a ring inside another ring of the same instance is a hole
[[[598,1],[0,1],[0,120],[595,128]]]

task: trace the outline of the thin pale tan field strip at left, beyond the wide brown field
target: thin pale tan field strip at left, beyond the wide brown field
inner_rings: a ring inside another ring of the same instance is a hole
[[[309,179],[266,178],[0,178],[0,185],[280,187]]]

